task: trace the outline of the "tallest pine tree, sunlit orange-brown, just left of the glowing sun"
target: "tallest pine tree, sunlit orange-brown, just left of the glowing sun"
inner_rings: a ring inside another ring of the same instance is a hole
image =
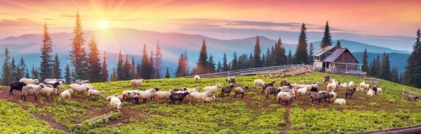
[[[76,13],[76,26],[73,29],[72,50],[70,50],[70,61],[74,69],[74,80],[85,79],[88,72],[87,54],[85,52],[85,39],[83,39],[82,24],[79,11]]]

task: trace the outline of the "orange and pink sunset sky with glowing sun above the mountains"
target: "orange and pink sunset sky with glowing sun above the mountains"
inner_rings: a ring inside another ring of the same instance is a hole
[[[109,27],[247,38],[241,29],[323,31],[375,36],[415,36],[421,27],[421,1],[8,1],[0,0],[0,38],[72,32],[79,11],[83,29]],[[264,35],[263,35],[264,36]]]

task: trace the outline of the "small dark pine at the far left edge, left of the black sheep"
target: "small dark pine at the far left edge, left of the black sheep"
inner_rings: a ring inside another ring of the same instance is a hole
[[[4,49],[4,59],[3,59],[3,66],[1,68],[1,85],[8,85],[13,80],[13,75],[11,72],[11,55],[9,55],[8,47]]]

